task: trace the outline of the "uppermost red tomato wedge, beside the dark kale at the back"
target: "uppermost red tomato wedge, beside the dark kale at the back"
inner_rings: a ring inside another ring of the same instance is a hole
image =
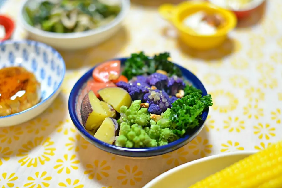
[[[102,63],[93,70],[92,76],[95,80],[104,83],[116,80],[120,76],[120,61],[113,60]]]

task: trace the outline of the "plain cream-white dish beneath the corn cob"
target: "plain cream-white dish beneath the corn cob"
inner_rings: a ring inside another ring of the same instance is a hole
[[[143,188],[187,188],[255,152],[230,152],[194,160],[164,172]]]

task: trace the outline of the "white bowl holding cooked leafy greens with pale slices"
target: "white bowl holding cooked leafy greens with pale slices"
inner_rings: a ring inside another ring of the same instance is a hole
[[[29,37],[32,40],[40,41],[53,46],[57,49],[63,50],[77,50],[88,48],[98,45],[99,43],[107,40],[113,36],[122,26],[122,21],[127,16],[130,9],[130,0],[118,0],[121,5],[121,12],[118,16],[109,24],[97,29],[83,31],[78,33],[53,33],[43,31],[29,25],[24,19],[24,7],[26,4],[35,0],[26,0],[21,6],[19,20],[23,24],[24,28],[28,31]]]

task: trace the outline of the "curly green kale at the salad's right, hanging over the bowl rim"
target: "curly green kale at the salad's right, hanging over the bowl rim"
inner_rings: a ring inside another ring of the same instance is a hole
[[[202,112],[212,106],[211,95],[202,96],[201,90],[193,86],[184,89],[185,97],[172,103],[170,120],[176,124],[175,134],[179,135],[183,130],[190,130],[199,126]]]

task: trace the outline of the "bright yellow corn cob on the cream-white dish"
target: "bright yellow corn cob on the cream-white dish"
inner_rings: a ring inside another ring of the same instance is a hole
[[[282,188],[282,141],[189,188]]]

